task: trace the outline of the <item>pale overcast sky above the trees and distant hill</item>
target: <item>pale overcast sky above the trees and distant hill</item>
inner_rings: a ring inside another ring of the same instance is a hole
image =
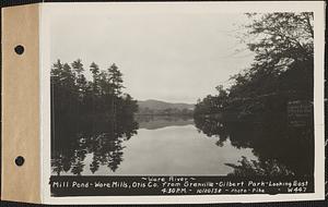
[[[215,86],[229,86],[254,58],[236,37],[247,21],[243,13],[98,5],[51,10],[51,62],[82,59],[85,69],[94,61],[104,70],[115,63],[134,99],[196,104],[214,95]]]

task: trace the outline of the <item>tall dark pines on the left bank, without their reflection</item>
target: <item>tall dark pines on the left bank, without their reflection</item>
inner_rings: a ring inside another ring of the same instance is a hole
[[[89,131],[124,131],[126,123],[134,124],[137,100],[124,94],[122,74],[116,64],[101,70],[96,63],[89,68],[92,80],[79,59],[71,64],[58,60],[51,68],[52,136]],[[124,123],[126,120],[126,123]],[[134,126],[127,126],[134,127]],[[55,137],[56,136],[56,137]],[[69,138],[69,137],[66,137]]]

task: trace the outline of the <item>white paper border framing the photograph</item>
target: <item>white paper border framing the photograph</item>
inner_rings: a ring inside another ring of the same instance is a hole
[[[79,7],[79,10],[97,10],[104,7],[116,11],[152,10],[207,11],[220,13],[242,12],[314,12],[314,118],[315,118],[315,193],[278,195],[186,195],[186,196],[74,196],[51,197],[50,178],[50,25],[60,7]],[[325,138],[324,138],[324,49],[325,2],[324,1],[253,1],[253,2],[89,2],[40,4],[40,141],[42,141],[42,203],[43,204],[209,204],[209,203],[259,203],[325,199]],[[32,190],[33,191],[33,190]]]

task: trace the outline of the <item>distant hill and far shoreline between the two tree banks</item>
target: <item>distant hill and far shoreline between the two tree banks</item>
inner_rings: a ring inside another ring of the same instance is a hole
[[[191,114],[195,105],[190,104],[173,104],[161,100],[139,100],[140,114]]]

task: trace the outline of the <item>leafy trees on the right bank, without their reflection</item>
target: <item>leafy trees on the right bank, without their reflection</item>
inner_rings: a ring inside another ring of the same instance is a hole
[[[313,13],[247,16],[251,23],[245,26],[243,39],[255,52],[253,64],[231,77],[231,87],[218,86],[216,95],[199,100],[195,115],[256,118],[268,111],[285,112],[289,100],[313,100]]]

